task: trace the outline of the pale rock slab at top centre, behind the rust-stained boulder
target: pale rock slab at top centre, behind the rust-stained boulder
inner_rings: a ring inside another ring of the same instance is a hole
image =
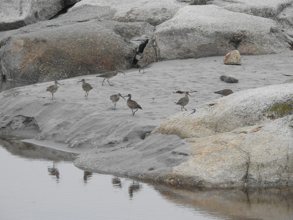
[[[173,17],[186,2],[174,0],[83,0],[75,4],[63,16],[75,15],[77,18],[101,18],[119,22],[145,21],[156,26]]]

